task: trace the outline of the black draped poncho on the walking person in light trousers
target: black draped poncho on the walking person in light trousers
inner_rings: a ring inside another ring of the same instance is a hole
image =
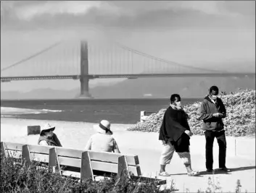
[[[189,152],[190,137],[184,133],[186,130],[190,131],[186,113],[169,106],[162,119],[159,140],[169,141],[176,152]]]

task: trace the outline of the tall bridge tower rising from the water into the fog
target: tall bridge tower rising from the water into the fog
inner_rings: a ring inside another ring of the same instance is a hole
[[[88,78],[88,42],[80,41],[80,98],[91,98]]]

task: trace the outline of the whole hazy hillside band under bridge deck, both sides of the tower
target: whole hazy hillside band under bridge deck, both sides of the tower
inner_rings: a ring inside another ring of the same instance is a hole
[[[202,97],[211,85],[217,85],[220,90],[236,91],[238,88],[254,89],[255,77],[193,77],[193,78],[141,78],[124,80],[116,85],[98,86],[90,89],[94,98],[143,98],[144,95],[153,98],[169,97],[179,93],[182,97]],[[51,90],[37,89],[28,93],[1,92],[1,99],[67,99],[79,95],[80,89]]]

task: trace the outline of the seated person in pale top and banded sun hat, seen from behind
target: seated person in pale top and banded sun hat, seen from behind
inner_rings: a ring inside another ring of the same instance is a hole
[[[99,124],[94,125],[94,129],[97,133],[88,140],[86,150],[120,153],[117,142],[112,137],[110,121],[102,120]]]

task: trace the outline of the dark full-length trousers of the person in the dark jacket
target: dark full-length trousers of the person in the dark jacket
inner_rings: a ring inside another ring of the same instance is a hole
[[[206,157],[206,168],[212,169],[213,165],[213,155],[212,147],[214,138],[216,137],[219,145],[219,168],[226,168],[226,136],[225,131],[223,132],[212,132],[205,131],[205,157]]]

